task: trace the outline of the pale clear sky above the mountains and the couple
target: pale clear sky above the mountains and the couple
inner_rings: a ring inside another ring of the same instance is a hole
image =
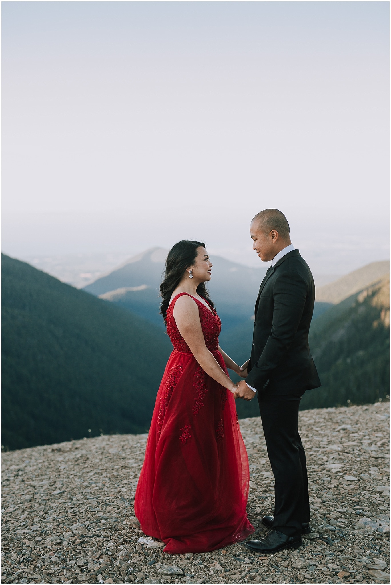
[[[387,2],[3,2],[4,252],[389,257]]]

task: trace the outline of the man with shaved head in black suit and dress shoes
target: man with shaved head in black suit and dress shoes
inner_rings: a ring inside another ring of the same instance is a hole
[[[272,261],[255,304],[251,357],[241,370],[235,397],[258,394],[270,465],[275,476],[274,517],[262,523],[266,538],[246,542],[256,552],[298,548],[310,528],[306,455],[297,424],[301,396],[320,380],[308,346],[315,301],[314,279],[290,241],[289,223],[278,209],[253,218],[253,249],[263,262]]]

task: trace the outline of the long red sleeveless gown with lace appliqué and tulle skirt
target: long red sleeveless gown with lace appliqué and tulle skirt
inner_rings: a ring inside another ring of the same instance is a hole
[[[235,400],[201,369],[179,333],[173,309],[184,294],[167,309],[174,351],[157,393],[135,497],[142,531],[165,542],[168,553],[219,549],[254,531],[246,515],[249,467]],[[220,319],[194,300],[205,345],[227,373],[217,349]]]

